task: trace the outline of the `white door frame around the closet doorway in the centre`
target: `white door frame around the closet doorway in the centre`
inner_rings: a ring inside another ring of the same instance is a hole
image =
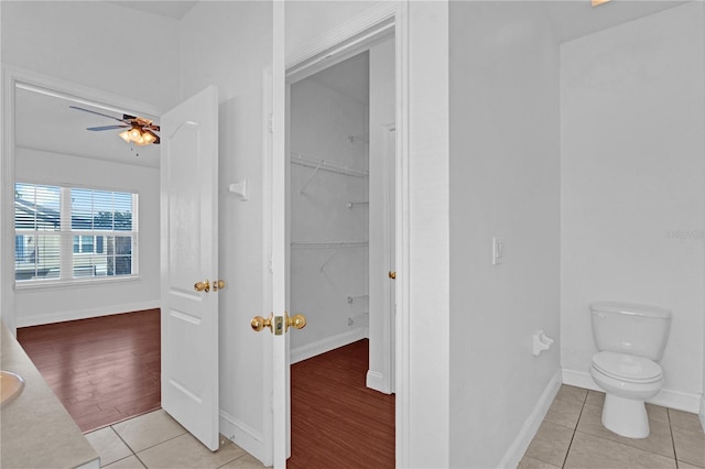
[[[276,3],[276,2],[275,2]],[[279,31],[279,33],[278,33]],[[286,87],[288,77],[299,77],[311,75],[318,69],[327,68],[336,62],[347,58],[346,55],[352,50],[357,50],[361,44],[371,42],[376,37],[388,34],[393,31],[394,34],[394,62],[395,62],[395,130],[397,130],[397,154],[395,154],[395,271],[397,281],[394,282],[394,296],[397,299],[397,317],[395,317],[395,459],[397,466],[405,467],[410,463],[411,440],[409,433],[410,419],[410,402],[408,390],[410,389],[410,284],[409,284],[409,265],[410,265],[410,243],[409,243],[409,4],[408,2],[380,2],[375,7],[362,12],[352,20],[340,24],[338,28],[330,30],[327,34],[302,45],[301,47],[286,54],[284,52],[284,33],[285,20],[283,8],[278,11],[274,8],[274,44],[273,44],[273,132],[274,132],[274,152],[285,152],[286,140],[285,132],[286,122]],[[278,132],[281,132],[278,135]],[[283,138],[281,137],[283,134]],[[265,167],[264,171],[264,193],[272,190],[285,192],[286,187],[281,184],[282,177],[286,173],[285,162],[286,155],[280,155],[273,159],[273,165],[283,165],[284,167]],[[265,218],[272,217],[270,230],[275,231],[278,228],[285,227],[285,214],[265,215]],[[274,242],[282,242],[284,237],[273,233]],[[272,247],[274,252],[285,253],[288,251],[284,246]],[[286,283],[288,285],[288,283]],[[272,292],[273,295],[282,293]],[[286,292],[284,292],[285,294]],[[286,343],[286,374],[289,370],[289,349]],[[282,370],[272,370],[273,373],[283,372]],[[286,380],[288,382],[288,380]],[[276,391],[274,392],[276,395]],[[288,394],[289,395],[289,394]],[[276,400],[275,400],[276,401]],[[283,411],[282,407],[289,410],[289,403],[273,402],[273,407]],[[285,430],[289,434],[290,418],[285,411],[282,415],[286,415]],[[274,422],[273,432],[281,432],[276,428],[278,422]],[[281,451],[274,448],[274,461],[278,460],[278,454]],[[288,448],[286,455],[290,454]]]

